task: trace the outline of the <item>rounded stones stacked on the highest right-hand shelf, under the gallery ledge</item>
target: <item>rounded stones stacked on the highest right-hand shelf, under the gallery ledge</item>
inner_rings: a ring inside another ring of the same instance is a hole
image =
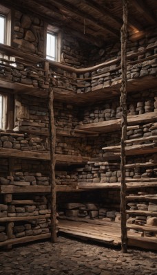
[[[156,89],[134,91],[132,94],[127,94],[127,115],[140,115],[156,111],[156,97]],[[121,118],[119,98],[104,100],[104,103],[83,108],[79,113],[79,118],[81,120],[80,125]]]

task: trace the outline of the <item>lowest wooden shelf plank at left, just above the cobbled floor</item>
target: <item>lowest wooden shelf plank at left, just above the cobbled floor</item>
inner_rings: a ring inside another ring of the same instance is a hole
[[[37,241],[42,239],[50,239],[51,233],[40,234],[37,236],[23,236],[22,238],[8,239],[0,243],[0,246],[4,245],[17,245],[19,243],[29,243],[30,241]]]

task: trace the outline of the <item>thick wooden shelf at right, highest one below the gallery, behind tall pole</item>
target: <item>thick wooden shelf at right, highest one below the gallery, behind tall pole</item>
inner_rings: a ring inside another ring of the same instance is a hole
[[[143,115],[129,115],[127,117],[128,125],[132,126],[140,123],[156,122],[157,112],[143,113]],[[95,131],[98,133],[107,133],[121,129],[121,118],[117,120],[107,120],[76,126],[76,129]]]

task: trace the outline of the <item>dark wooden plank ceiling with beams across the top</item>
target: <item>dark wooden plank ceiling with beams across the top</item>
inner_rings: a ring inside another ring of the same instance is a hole
[[[134,41],[157,23],[156,0],[129,2],[128,34]],[[120,40],[122,0],[1,0],[8,8],[25,10],[85,41],[102,47]],[[147,34],[147,33],[146,33]]]

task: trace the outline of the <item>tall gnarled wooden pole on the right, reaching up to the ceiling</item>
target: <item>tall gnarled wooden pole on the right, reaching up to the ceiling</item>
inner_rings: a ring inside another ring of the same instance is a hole
[[[121,28],[121,69],[122,69],[122,84],[121,84],[121,248],[127,252],[127,228],[126,228],[126,183],[125,183],[125,140],[127,140],[127,0],[123,0],[123,26]]]

